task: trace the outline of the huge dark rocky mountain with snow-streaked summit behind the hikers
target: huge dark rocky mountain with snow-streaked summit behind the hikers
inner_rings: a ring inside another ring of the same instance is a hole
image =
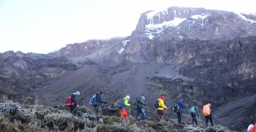
[[[217,124],[243,131],[256,122],[255,67],[256,14],[169,7],[142,13],[126,38],[69,44],[49,54],[0,53],[0,88],[9,99],[33,96],[50,106],[77,90],[87,106],[99,91],[111,103],[148,95],[148,119],[157,115],[151,101],[164,94],[169,106],[179,98],[200,108],[211,103]]]

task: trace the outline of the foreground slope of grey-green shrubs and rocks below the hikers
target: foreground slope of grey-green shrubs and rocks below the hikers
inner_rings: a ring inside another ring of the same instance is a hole
[[[188,124],[173,124],[173,118],[163,119],[121,119],[115,106],[104,110],[102,118],[93,114],[86,106],[73,117],[66,106],[48,107],[42,105],[20,105],[10,101],[0,103],[0,130],[8,132],[231,132],[222,126],[201,127]]]

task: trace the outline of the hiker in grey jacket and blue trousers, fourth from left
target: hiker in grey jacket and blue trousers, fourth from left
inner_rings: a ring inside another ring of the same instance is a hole
[[[146,97],[147,96],[144,95],[136,98],[136,102],[135,102],[135,105],[137,106],[137,113],[135,116],[136,119],[138,119],[139,115],[142,114],[143,119],[146,120],[146,113],[145,113],[145,109],[143,108],[143,106],[146,106],[144,102]]]

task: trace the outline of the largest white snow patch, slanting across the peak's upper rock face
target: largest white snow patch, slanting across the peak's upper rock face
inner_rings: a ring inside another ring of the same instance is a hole
[[[161,24],[148,24],[148,25],[145,26],[145,28],[146,28],[145,35],[149,39],[153,39],[153,37],[155,36],[153,34],[160,34],[163,31],[163,28],[167,28],[167,27],[170,27],[170,26],[173,26],[173,27],[178,26],[181,22],[183,22],[185,20],[186,20],[186,18],[177,18],[177,17],[175,17],[173,20],[164,21]]]

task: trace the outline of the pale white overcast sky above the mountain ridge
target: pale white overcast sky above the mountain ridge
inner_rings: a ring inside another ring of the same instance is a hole
[[[129,36],[141,13],[170,6],[256,13],[256,0],[0,0],[0,52],[49,53]]]

